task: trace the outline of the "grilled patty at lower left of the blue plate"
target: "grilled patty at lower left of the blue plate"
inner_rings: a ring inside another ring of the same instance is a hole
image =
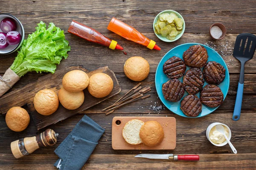
[[[171,79],[162,86],[163,96],[170,102],[179,101],[184,95],[184,85],[178,79]]]

